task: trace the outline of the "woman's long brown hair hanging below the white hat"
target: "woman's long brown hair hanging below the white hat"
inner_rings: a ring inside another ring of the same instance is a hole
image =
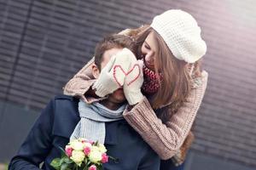
[[[163,78],[160,81],[160,89],[153,96],[149,97],[149,102],[163,122],[169,120],[170,116],[177,112],[183,105],[191,90],[191,77],[186,62],[176,59],[166,42],[160,35],[149,26],[144,26],[135,37],[137,41],[137,54],[141,56],[141,47],[149,33],[153,33],[158,44],[155,52],[154,67],[157,74],[161,73]],[[164,105],[168,107],[162,108]]]

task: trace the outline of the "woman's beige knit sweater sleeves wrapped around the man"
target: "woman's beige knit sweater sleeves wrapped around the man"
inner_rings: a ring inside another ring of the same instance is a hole
[[[95,82],[92,79],[90,69],[90,65],[93,62],[94,59],[91,59],[87,65],[67,82],[63,88],[64,94],[79,96],[86,103],[100,100],[84,96],[85,92]],[[207,88],[207,78],[207,72],[203,71],[201,85],[192,89],[187,102],[179,108],[177,113],[166,124],[163,124],[155,115],[146,98],[135,105],[131,111],[126,110],[124,112],[125,120],[140,133],[161,159],[166,160],[175,156],[188,136]]]

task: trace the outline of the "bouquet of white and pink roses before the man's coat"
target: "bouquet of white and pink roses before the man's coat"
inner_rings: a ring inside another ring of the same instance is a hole
[[[107,150],[103,144],[86,139],[73,139],[62,150],[61,158],[55,158],[50,165],[57,170],[101,170],[108,162]]]

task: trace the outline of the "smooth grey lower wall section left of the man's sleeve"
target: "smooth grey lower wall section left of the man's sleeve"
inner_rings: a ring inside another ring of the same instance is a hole
[[[5,115],[1,120],[0,129],[0,150],[3,150],[0,153],[0,162],[8,162],[26,138],[39,111],[28,110],[22,105],[7,102],[0,102],[0,111]]]

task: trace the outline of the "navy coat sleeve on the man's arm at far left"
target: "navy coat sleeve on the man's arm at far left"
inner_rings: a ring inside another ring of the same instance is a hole
[[[28,133],[17,155],[10,161],[9,170],[39,169],[39,164],[44,161],[52,148],[53,121],[54,104],[51,100]]]

